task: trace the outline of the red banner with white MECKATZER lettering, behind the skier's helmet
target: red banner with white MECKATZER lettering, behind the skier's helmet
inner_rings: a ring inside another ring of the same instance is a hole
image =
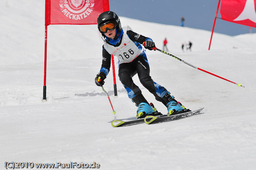
[[[97,24],[105,11],[109,11],[108,0],[46,0],[45,25]]]

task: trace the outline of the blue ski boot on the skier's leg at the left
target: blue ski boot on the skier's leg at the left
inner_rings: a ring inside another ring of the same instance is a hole
[[[138,107],[137,109],[137,118],[145,118],[147,115],[154,113],[154,109],[148,104],[148,101],[144,98],[142,94],[132,98],[132,101]]]

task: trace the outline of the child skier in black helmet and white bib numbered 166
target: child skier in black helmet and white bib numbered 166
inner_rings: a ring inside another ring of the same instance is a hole
[[[141,84],[151,92],[157,101],[161,101],[168,109],[168,115],[174,115],[185,109],[170,92],[155,83],[149,75],[149,65],[145,49],[155,49],[151,38],[139,35],[129,26],[121,27],[116,13],[107,11],[97,19],[99,32],[102,33],[102,67],[95,78],[97,86],[102,86],[111,66],[111,54],[119,59],[119,79],[125,87],[128,97],[136,104],[137,118],[154,115],[154,109],[143,97],[141,90],[134,84],[132,77],[138,74]],[[141,46],[143,44],[145,49]]]

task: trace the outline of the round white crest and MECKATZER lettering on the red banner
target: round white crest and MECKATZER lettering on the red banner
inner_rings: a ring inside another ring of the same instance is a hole
[[[82,20],[93,12],[94,0],[60,0],[60,10],[72,20]]]

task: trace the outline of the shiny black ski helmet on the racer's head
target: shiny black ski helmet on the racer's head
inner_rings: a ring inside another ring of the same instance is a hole
[[[117,16],[117,14],[112,11],[106,11],[99,15],[99,17],[97,19],[98,29],[100,26],[110,23],[110,22],[114,22],[116,24],[116,34],[118,34],[122,29],[121,22],[119,20],[119,17]],[[99,30],[99,32],[100,32],[100,30]],[[103,33],[102,33],[102,35],[105,36]]]

